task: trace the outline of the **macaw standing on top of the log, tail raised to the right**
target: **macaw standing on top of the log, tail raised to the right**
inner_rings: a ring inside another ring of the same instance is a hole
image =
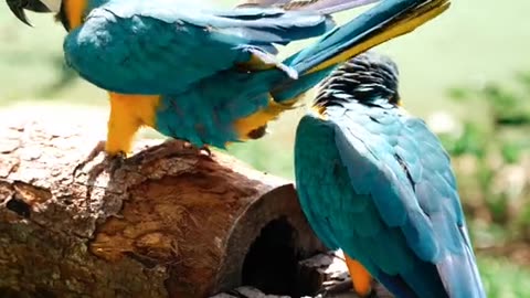
[[[336,26],[330,14],[374,0],[257,0],[231,10],[197,0],[7,1],[24,22],[24,9],[56,12],[67,64],[109,92],[107,157],[129,152],[141,126],[197,147],[259,138],[337,64],[448,7],[385,0]],[[277,60],[275,44],[322,34]]]

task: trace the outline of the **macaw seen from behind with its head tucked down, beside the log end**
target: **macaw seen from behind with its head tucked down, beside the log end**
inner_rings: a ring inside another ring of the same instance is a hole
[[[295,142],[297,191],[316,234],[341,248],[354,289],[485,298],[451,160],[406,113],[398,67],[367,52],[325,78]]]

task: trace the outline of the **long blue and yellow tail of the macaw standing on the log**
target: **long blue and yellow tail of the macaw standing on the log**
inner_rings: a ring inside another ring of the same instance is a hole
[[[406,34],[437,17],[448,0],[386,0],[284,61],[298,74],[273,91],[276,102],[287,102],[318,84],[338,64],[388,40]]]

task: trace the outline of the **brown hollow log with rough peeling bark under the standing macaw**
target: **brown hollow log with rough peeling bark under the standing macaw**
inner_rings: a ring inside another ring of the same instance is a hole
[[[141,142],[113,174],[74,178],[93,129],[2,124],[0,297],[311,295],[298,262],[325,247],[292,182],[181,141]]]

